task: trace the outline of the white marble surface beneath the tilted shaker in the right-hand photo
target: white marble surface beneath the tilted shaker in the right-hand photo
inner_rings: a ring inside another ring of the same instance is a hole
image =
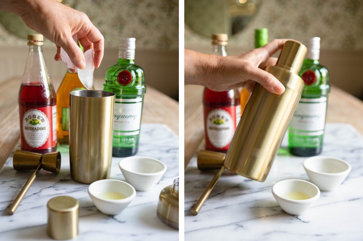
[[[286,150],[286,140],[282,147]],[[225,171],[197,216],[191,209],[216,171],[200,172],[196,157],[185,171],[185,240],[363,240],[363,138],[348,124],[328,123],[321,155],[342,158],[352,170],[343,183],[303,215],[292,216],[272,196],[274,183],[309,181],[306,158],[287,151],[275,159],[265,182]]]

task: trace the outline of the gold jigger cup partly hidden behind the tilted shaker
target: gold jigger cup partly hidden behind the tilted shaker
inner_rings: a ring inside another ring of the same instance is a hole
[[[199,170],[221,169],[226,154],[216,151],[200,150],[197,156]]]

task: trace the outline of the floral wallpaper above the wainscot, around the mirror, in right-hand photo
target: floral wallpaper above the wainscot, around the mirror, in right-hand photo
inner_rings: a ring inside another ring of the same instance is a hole
[[[208,4],[220,0],[199,0],[195,4],[200,5],[200,1]],[[317,36],[321,37],[322,49],[363,50],[363,1],[261,0],[256,15],[241,32],[229,38],[229,45],[253,48],[256,28],[268,28],[270,40],[292,38],[304,42],[306,37]],[[209,38],[194,32],[188,25],[184,29],[186,47],[210,46]]]

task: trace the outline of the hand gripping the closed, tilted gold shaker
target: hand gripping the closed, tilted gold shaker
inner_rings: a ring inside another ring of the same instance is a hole
[[[244,87],[252,91],[258,82],[274,94],[282,94],[284,85],[272,74],[262,70],[275,65],[274,53],[282,49],[287,39],[272,40],[265,46],[235,56],[215,56],[185,50],[185,84],[198,84],[214,91]]]

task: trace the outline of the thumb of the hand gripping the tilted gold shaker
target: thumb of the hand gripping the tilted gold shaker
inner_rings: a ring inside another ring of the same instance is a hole
[[[266,72],[265,70],[252,67],[249,71],[246,71],[246,78],[252,79],[262,86],[265,87],[266,90],[270,91],[273,94],[282,94],[285,91],[285,86],[282,85],[277,78],[275,78],[272,74]]]

